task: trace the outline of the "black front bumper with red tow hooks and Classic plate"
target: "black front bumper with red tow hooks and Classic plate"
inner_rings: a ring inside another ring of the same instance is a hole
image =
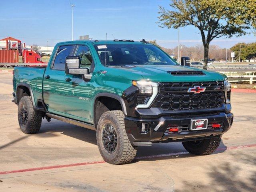
[[[190,131],[191,119],[208,119],[210,123],[222,123],[221,128],[210,128],[206,130]],[[126,133],[130,142],[134,146],[151,145],[152,142],[178,142],[187,140],[206,139],[221,136],[228,131],[233,122],[233,114],[228,112],[216,112],[210,114],[197,115],[177,115],[177,116],[161,116],[160,118],[134,118],[126,116],[124,118]],[[142,123],[147,123],[149,131],[141,133]],[[166,132],[167,128],[172,126],[183,126],[176,133]],[[188,127],[186,129],[186,127]]]

